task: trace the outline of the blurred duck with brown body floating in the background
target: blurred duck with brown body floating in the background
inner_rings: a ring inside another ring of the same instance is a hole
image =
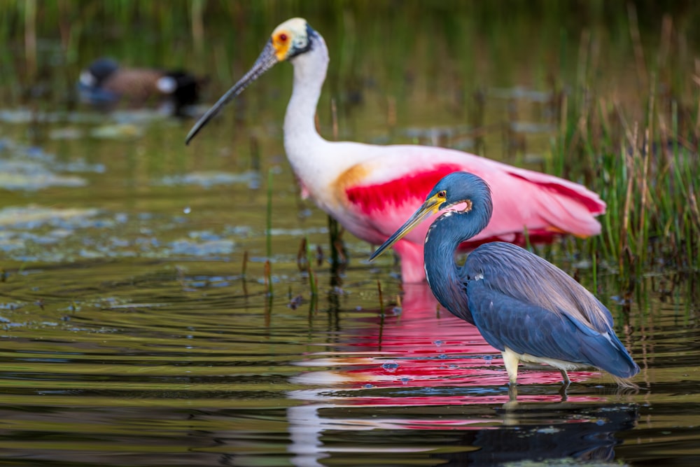
[[[153,104],[165,113],[181,116],[187,106],[197,102],[205,81],[186,71],[122,68],[116,60],[99,58],[80,72],[78,95],[82,102],[102,110],[118,104]]]

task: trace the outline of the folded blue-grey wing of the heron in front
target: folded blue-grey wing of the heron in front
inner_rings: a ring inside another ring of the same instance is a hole
[[[517,246],[491,243],[462,270],[468,306],[489,344],[626,377],[636,364],[612,330],[612,316],[566,273]]]

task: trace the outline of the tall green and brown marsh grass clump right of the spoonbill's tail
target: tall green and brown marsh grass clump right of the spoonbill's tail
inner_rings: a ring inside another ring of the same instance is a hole
[[[594,77],[602,70],[587,70],[600,62],[601,52],[591,47],[594,39],[583,36],[581,92],[573,102],[563,101],[551,167],[563,176],[587,174],[584,183],[607,202],[602,235],[581,246],[617,272],[627,297],[649,272],[700,268],[700,111],[682,104],[697,99],[696,70],[666,69],[668,57],[682,57],[682,50],[673,50],[671,36],[679,36],[670,17],[661,24],[656,60],[648,62],[644,57],[651,54],[642,45],[633,7],[628,19],[636,85],[643,86],[639,99],[622,102],[601,92]]]

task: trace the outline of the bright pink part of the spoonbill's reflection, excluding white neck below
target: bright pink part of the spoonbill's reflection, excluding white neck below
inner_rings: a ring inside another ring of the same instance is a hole
[[[332,369],[306,372],[297,376],[295,382],[326,386],[326,393],[357,390],[357,394],[346,397],[346,403],[352,405],[507,402],[508,377],[500,352],[486,343],[475,326],[444,309],[439,314],[436,310],[437,301],[427,285],[406,285],[400,314],[386,316],[384,323],[380,317],[372,318],[375,326],[356,328],[353,337],[339,343],[335,352],[309,354],[309,358],[298,365]],[[573,382],[598,375],[598,372],[586,371],[570,373]],[[551,394],[524,395],[522,400],[561,399],[557,392],[561,384],[559,370],[543,365],[521,366],[518,382],[521,386],[552,385],[552,391],[546,391]],[[444,396],[444,390],[418,397],[362,395],[363,389],[435,389],[445,386],[475,390],[461,391],[463,394],[456,396]]]

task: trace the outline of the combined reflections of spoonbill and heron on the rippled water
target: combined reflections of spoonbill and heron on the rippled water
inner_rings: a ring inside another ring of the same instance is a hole
[[[440,465],[475,466],[614,458],[615,434],[634,425],[636,406],[617,403],[619,396],[599,386],[576,384],[562,396],[551,385],[557,376],[551,371],[523,372],[520,393],[509,392],[505,368],[489,358],[496,350],[476,328],[451,314],[436,316],[427,285],[404,286],[400,314],[344,323],[335,351],[298,362],[307,370],[290,379],[301,389],[288,392],[296,404],[287,410],[293,465],[345,458],[352,443],[336,440],[372,430],[425,435],[421,445],[377,442],[372,452],[378,458],[425,456]],[[576,372],[576,380],[598,375]],[[433,454],[440,447],[451,454]]]

